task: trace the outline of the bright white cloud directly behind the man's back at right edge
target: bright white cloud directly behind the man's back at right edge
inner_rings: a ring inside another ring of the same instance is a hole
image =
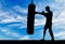
[[[57,18],[53,19],[53,24],[60,25],[65,25],[65,11],[61,11],[60,15]]]

